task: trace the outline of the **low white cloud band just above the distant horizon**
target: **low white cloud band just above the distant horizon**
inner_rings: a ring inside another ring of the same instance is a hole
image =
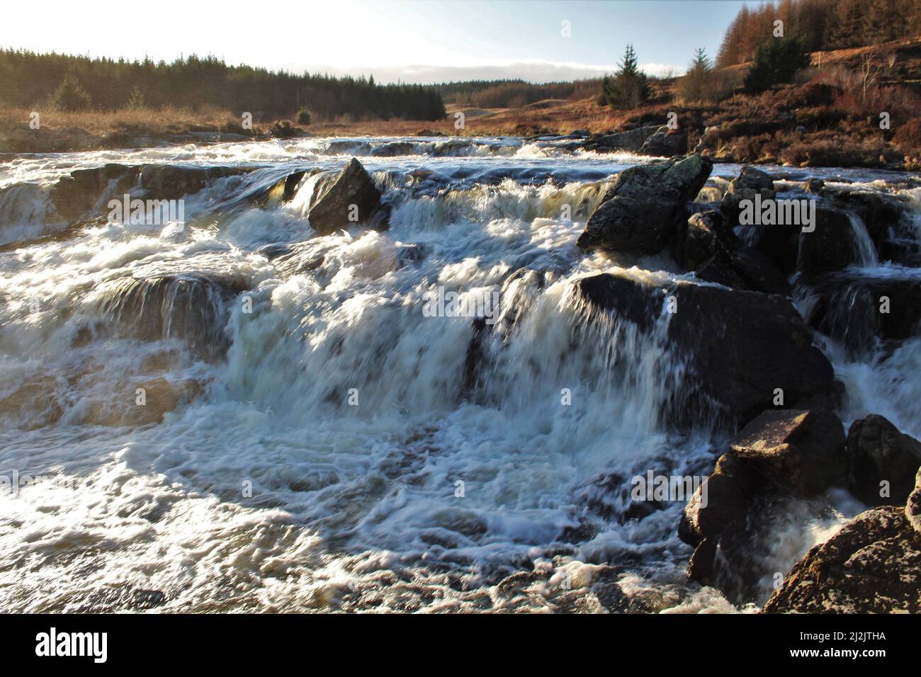
[[[528,82],[565,82],[601,77],[617,69],[616,64],[574,64],[554,61],[516,61],[499,64],[423,65],[399,66],[331,66],[285,64],[294,73],[329,73],[332,76],[374,75],[379,83],[407,82],[431,85],[439,82],[464,80],[521,79]],[[663,76],[683,72],[682,66],[673,64],[640,64],[648,76]]]

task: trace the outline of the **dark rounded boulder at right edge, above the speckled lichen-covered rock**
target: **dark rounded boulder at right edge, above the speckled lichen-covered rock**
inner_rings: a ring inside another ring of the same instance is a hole
[[[882,416],[870,414],[851,424],[847,432],[847,484],[867,505],[904,505],[915,489],[918,466],[921,442]],[[889,496],[880,496],[883,481],[889,483]]]

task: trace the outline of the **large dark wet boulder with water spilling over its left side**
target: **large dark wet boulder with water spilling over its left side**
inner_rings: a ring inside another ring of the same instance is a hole
[[[692,372],[683,391],[691,418],[716,411],[747,421],[773,407],[777,388],[787,406],[833,390],[834,370],[787,298],[690,282],[663,297],[626,274],[582,278],[577,291],[642,330],[661,321],[665,298],[674,299],[665,331]]]

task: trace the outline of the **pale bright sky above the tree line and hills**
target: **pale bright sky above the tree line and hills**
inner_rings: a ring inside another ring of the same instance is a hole
[[[0,46],[171,61],[214,54],[379,82],[611,72],[627,42],[649,75],[680,74],[697,47],[715,56],[741,0],[185,0],[7,2]],[[569,35],[564,35],[568,22]]]

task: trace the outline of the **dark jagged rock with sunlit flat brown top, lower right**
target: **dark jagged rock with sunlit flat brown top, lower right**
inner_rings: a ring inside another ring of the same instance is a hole
[[[775,409],[752,420],[684,508],[678,535],[694,545],[688,576],[751,599],[775,509],[840,482],[844,444],[829,410]]]

